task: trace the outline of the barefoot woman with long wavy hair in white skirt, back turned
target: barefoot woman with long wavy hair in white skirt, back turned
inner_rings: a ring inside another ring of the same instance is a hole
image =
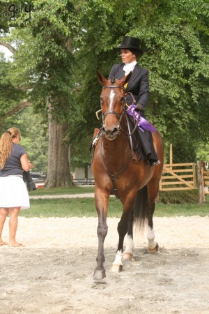
[[[16,241],[18,215],[20,209],[30,207],[29,194],[22,179],[23,170],[29,171],[29,162],[18,128],[9,128],[0,139],[0,246],[22,246]],[[9,241],[1,238],[6,217],[9,218]]]

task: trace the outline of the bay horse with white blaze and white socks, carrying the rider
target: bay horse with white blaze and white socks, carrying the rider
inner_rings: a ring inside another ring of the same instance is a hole
[[[117,194],[123,204],[123,214],[118,223],[118,248],[112,264],[112,271],[123,270],[123,260],[133,257],[133,223],[139,227],[148,220],[148,251],[156,253],[153,230],[155,198],[163,168],[164,144],[160,133],[153,132],[153,142],[160,165],[150,167],[146,159],[135,160],[131,156],[130,137],[127,135],[125,119],[125,89],[130,78],[107,80],[97,71],[98,81],[102,84],[100,94],[102,128],[95,145],[92,168],[95,178],[95,207],[98,212],[98,255],[93,278],[106,277],[104,269],[104,239],[107,235],[107,211],[109,196]],[[127,234],[127,246],[123,251],[123,241]]]

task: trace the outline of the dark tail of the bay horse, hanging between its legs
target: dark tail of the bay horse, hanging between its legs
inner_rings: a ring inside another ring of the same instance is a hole
[[[144,188],[138,190],[134,205],[134,223],[139,223],[140,227],[144,227],[144,223],[148,220],[147,202],[148,190],[147,186],[144,186]]]

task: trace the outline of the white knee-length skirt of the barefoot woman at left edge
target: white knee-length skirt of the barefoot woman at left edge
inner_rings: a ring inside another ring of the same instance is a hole
[[[29,193],[21,177],[0,177],[0,207],[30,207]]]

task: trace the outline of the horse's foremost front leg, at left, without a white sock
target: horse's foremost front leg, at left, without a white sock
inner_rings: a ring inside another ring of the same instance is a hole
[[[98,211],[98,255],[97,255],[97,267],[94,270],[93,278],[95,280],[101,280],[106,277],[104,269],[104,239],[107,235],[107,207],[108,207],[109,195],[96,192],[95,190],[95,207]]]

